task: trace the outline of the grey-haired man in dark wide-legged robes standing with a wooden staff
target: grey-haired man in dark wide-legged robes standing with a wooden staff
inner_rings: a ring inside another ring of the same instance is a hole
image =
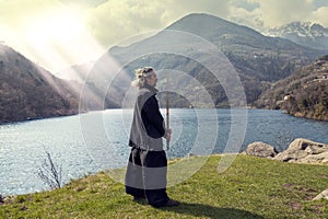
[[[171,139],[171,129],[155,97],[157,77],[153,68],[136,70],[133,85],[139,88],[134,105],[129,146],[131,152],[126,172],[126,193],[134,200],[145,198],[153,207],[178,206],[166,193],[167,159],[163,137]]]

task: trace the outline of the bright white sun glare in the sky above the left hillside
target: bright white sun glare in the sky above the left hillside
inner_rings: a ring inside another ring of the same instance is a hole
[[[52,73],[93,60],[104,50],[72,9],[52,9],[25,20],[23,35],[30,54]]]

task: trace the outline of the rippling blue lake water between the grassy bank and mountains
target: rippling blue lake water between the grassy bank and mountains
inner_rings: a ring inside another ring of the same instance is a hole
[[[126,165],[131,116],[131,110],[108,110],[1,125],[0,194],[47,189],[37,176],[46,151],[61,165],[65,183]],[[280,111],[171,110],[169,120],[169,159],[190,153],[237,152],[254,141],[278,150],[295,138],[328,143],[328,123],[296,118]]]

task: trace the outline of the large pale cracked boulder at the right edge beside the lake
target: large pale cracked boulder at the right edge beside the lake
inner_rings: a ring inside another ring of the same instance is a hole
[[[278,153],[274,160],[328,164],[328,145],[297,138],[285,151]]]

